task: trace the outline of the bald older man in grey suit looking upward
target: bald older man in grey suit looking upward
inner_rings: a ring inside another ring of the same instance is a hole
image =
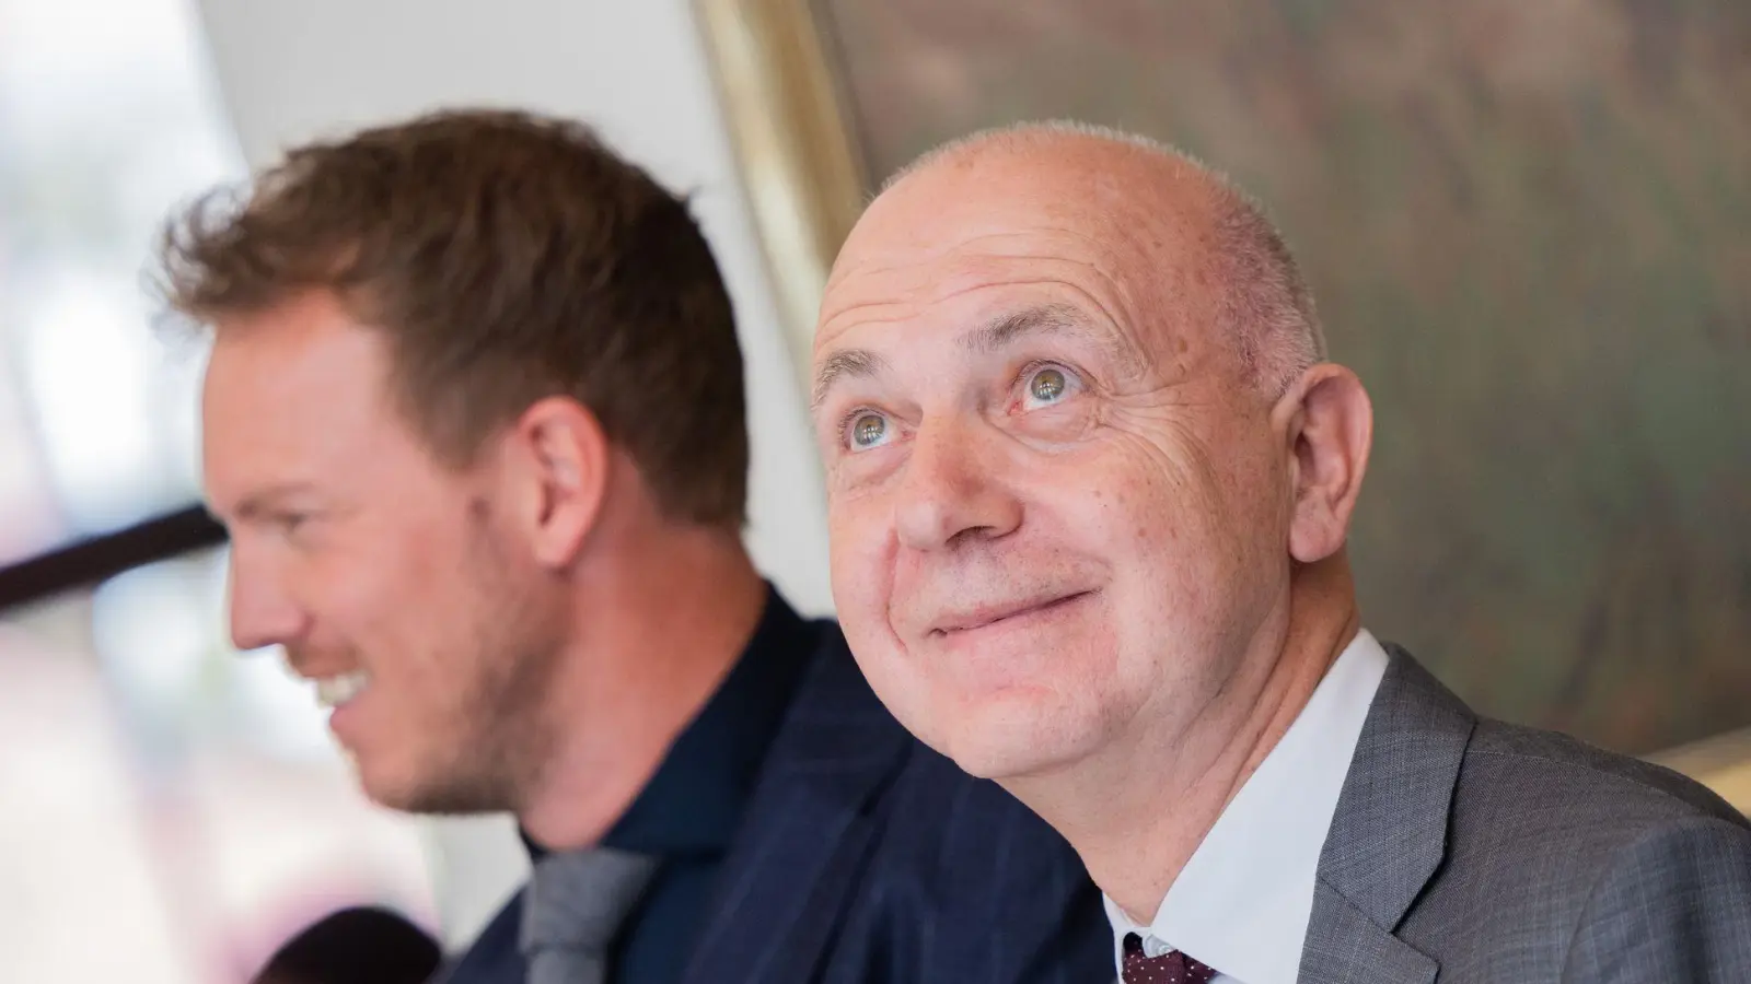
[[[1224,179],[946,147],[830,278],[833,594],[877,695],[1105,889],[1126,982],[1751,980],[1751,830],[1361,625],[1357,376]]]

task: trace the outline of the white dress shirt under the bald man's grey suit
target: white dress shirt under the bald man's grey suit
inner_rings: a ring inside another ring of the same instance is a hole
[[[1213,966],[1217,982],[1294,984],[1319,854],[1385,672],[1387,651],[1357,632],[1198,844],[1156,919],[1138,926],[1105,900],[1121,966],[1124,937],[1136,933],[1149,956],[1184,951]]]

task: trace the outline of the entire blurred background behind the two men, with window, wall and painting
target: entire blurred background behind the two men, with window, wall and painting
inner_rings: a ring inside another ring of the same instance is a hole
[[[0,980],[231,984],[347,905],[454,945],[522,877],[504,818],[366,804],[308,686],[226,644],[203,354],[142,289],[179,201],[459,103],[587,119],[693,191],[749,545],[809,613],[798,380],[870,189],[1028,117],[1205,156],[1376,399],[1369,625],[1488,713],[1751,788],[1739,0],[0,0]]]

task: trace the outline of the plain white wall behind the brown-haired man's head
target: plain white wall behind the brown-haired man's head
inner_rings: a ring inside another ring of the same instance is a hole
[[[753,431],[755,560],[793,604],[830,611],[821,480],[797,373],[686,0],[200,0],[252,166],[289,144],[441,105],[581,117],[672,189],[723,266]],[[508,821],[434,825],[447,937],[522,877]]]

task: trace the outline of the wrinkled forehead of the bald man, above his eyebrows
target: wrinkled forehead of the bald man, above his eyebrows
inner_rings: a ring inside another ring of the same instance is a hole
[[[893,327],[954,334],[1042,303],[1084,312],[1133,364],[1182,352],[1213,303],[1201,179],[1133,149],[1066,149],[951,158],[877,198],[828,278],[816,366]]]

